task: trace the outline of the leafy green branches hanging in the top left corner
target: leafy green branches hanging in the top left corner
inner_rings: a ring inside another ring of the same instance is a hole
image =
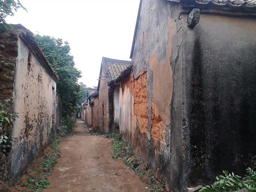
[[[11,27],[9,24],[5,22],[5,18],[8,15],[14,15],[13,9],[17,12],[17,9],[23,8],[27,11],[25,7],[22,6],[19,0],[0,0],[0,27],[5,28],[5,26]],[[28,12],[28,11],[27,11]]]

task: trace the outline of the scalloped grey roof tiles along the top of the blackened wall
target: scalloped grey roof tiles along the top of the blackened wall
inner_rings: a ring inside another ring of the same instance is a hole
[[[187,0],[168,0],[173,2],[185,2]],[[194,0],[199,4],[213,3],[217,5],[227,5],[230,4],[235,7],[246,6],[246,7],[256,7],[256,0]]]

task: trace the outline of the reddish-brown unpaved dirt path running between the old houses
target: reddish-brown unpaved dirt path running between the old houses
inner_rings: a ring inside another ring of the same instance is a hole
[[[127,169],[121,159],[112,159],[111,139],[92,136],[77,120],[76,136],[60,143],[60,158],[43,192],[144,192],[146,184]],[[114,174],[113,174],[114,173]]]

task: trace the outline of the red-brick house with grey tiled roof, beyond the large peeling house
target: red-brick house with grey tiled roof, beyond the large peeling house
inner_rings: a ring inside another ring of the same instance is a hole
[[[127,69],[131,61],[115,60],[102,57],[98,83],[99,98],[95,105],[95,113],[99,129],[96,131],[109,132],[119,127],[119,84],[116,83],[121,71]]]

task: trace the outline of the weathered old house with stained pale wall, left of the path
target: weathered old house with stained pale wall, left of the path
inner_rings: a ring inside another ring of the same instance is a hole
[[[19,113],[11,130],[0,129],[13,141],[5,157],[0,153],[0,177],[8,185],[20,179],[52,140],[58,81],[33,33],[20,24],[12,26],[0,33],[0,99]]]

